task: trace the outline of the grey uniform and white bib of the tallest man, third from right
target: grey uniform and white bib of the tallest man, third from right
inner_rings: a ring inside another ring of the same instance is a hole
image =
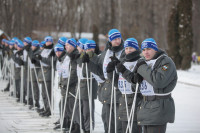
[[[111,45],[111,44],[108,44]],[[100,56],[94,57],[98,58],[95,62],[92,60],[88,63],[88,68],[96,75],[98,75],[101,79],[104,80],[101,88],[98,89],[98,98],[103,104],[102,108],[102,120],[104,123],[104,130],[107,133],[109,128],[109,116],[110,116],[110,107],[111,107],[111,90],[112,90],[112,80],[109,80],[106,68],[108,63],[111,61],[110,57],[115,55],[117,58],[122,58],[124,56],[123,51],[123,43],[120,44],[116,49],[110,47],[106,51],[102,52]],[[119,107],[119,98],[121,93],[119,90],[116,90],[116,108],[118,113]],[[113,100],[114,102],[114,100]],[[112,103],[113,104],[113,103]],[[117,132],[121,132],[121,124],[119,124],[119,120],[117,120]],[[115,132],[114,126],[114,106],[112,108],[112,116],[111,116],[111,133]]]

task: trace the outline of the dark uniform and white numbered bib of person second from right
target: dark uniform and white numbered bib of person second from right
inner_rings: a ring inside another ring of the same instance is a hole
[[[130,81],[127,81],[126,78],[131,74],[131,72],[134,70],[134,67],[137,63],[137,60],[140,58],[140,51],[137,50],[135,52],[132,52],[130,54],[127,54],[125,58],[122,59],[122,64],[125,66],[126,70],[123,73],[119,73],[118,76],[119,78],[117,79],[117,87],[122,93],[122,97],[119,99],[119,115],[118,119],[122,123],[122,133],[126,132],[127,124],[128,124],[128,119],[127,119],[127,109],[126,109],[126,104],[128,107],[128,114],[130,116],[132,104],[133,104],[133,99],[135,95],[135,84],[131,84]],[[126,95],[126,97],[125,97]],[[136,98],[136,107],[139,106],[139,102],[142,99],[142,95],[140,93],[137,93],[137,98]],[[125,101],[126,98],[126,101]],[[132,133],[141,133],[142,128],[141,126],[137,125],[137,111],[135,110],[134,113],[134,121],[133,121],[133,126],[132,126]]]

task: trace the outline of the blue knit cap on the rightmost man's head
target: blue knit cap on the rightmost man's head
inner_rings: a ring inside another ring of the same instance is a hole
[[[142,42],[141,49],[143,50],[145,48],[152,48],[155,51],[158,51],[158,46],[153,38],[147,38]]]

